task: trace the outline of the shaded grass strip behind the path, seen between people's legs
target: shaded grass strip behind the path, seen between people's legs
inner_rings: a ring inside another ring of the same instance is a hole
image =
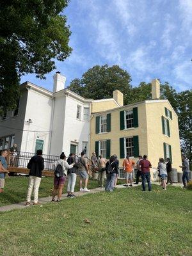
[[[17,204],[26,200],[26,193],[28,190],[28,177],[25,176],[11,176],[6,177],[4,193],[0,193],[0,206]],[[97,188],[97,180],[90,180],[88,188]],[[43,177],[40,188],[39,198],[51,195],[53,188],[53,178]],[[79,179],[76,182],[76,191],[79,190]],[[63,193],[67,193],[67,182],[63,188]]]

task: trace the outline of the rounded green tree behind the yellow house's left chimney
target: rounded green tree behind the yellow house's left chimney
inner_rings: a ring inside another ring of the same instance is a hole
[[[128,95],[131,91],[130,82],[129,73],[118,65],[96,65],[85,72],[81,79],[72,80],[68,89],[85,98],[108,99],[112,97],[114,90]],[[124,104],[127,104],[127,99],[124,97]]]

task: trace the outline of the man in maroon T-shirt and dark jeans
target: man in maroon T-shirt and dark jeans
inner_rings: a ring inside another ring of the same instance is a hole
[[[152,165],[151,165],[150,161],[147,160],[147,155],[144,155],[143,159],[140,161],[143,191],[145,191],[145,180],[146,179],[147,179],[147,184],[148,184],[148,191],[152,190],[152,186],[150,184],[150,168],[151,167],[152,167]]]

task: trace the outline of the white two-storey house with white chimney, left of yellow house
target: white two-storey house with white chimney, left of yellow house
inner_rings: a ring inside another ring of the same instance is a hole
[[[7,111],[0,121],[0,150],[17,143],[22,152],[60,155],[88,154],[92,99],[65,89],[64,76],[54,75],[53,92],[30,82],[20,85],[18,108]]]

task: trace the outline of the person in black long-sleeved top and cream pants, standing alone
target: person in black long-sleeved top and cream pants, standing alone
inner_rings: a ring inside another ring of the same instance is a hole
[[[39,205],[38,202],[38,188],[42,179],[42,170],[44,170],[44,158],[42,157],[42,150],[36,150],[36,156],[31,157],[28,163],[29,171],[29,186],[26,206],[31,203],[31,194],[33,191],[34,200],[33,205]]]

